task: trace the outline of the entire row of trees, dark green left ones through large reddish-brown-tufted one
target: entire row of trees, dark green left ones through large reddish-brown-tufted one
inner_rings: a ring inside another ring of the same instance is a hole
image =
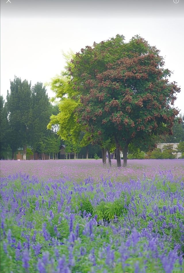
[[[85,149],[101,148],[102,162],[116,153],[117,166],[127,166],[127,154],[153,151],[158,142],[184,141],[184,118],[174,107],[180,88],[169,82],[171,71],[156,47],[140,36],[128,43],[117,34],[66,56],[65,70],[45,86],[15,77],[6,102],[1,96],[1,154],[12,158],[23,147],[32,153],[53,154],[65,143],[74,158]],[[54,99],[52,100],[54,102]],[[95,146],[94,146],[95,147]]]

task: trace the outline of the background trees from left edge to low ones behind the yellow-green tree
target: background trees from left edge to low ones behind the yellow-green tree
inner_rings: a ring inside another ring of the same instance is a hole
[[[6,101],[0,96],[0,157],[6,159],[6,154],[11,153],[15,158],[15,152],[23,148],[23,158],[35,154],[39,159],[58,159],[61,145],[65,145],[66,158],[74,153],[74,158],[80,152],[81,157],[92,157],[94,153],[101,155],[100,147],[89,143],[84,147],[84,142],[74,143],[71,139],[61,139],[57,134],[59,124],[53,124],[49,130],[47,124],[50,117],[57,115],[57,104],[53,105],[47,95],[47,90],[41,82],[31,86],[31,82],[21,80],[15,76],[10,81],[10,91],[7,91]],[[83,132],[78,140],[82,140]]]

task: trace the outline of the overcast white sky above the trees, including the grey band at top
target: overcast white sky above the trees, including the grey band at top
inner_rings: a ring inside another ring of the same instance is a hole
[[[184,113],[184,0],[1,0],[1,95],[14,75],[49,82],[64,69],[62,55],[93,42],[139,34],[160,49],[170,81],[181,87],[175,107]],[[6,3],[7,2],[7,3]],[[49,97],[54,94],[47,87]]]

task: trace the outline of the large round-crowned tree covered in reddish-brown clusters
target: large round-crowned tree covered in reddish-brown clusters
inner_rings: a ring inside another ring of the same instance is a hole
[[[156,47],[139,36],[129,43],[116,35],[75,54],[67,66],[70,85],[77,92],[72,99],[77,122],[104,141],[114,138],[117,166],[127,166],[130,143],[154,147],[156,136],[172,134],[175,116],[176,82]]]

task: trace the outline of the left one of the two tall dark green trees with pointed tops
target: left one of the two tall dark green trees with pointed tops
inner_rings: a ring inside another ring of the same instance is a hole
[[[30,143],[32,118],[31,107],[31,83],[21,81],[15,76],[10,81],[10,93],[7,93],[7,110],[10,125],[12,157],[18,147],[23,147],[23,159],[26,159],[27,145]]]

